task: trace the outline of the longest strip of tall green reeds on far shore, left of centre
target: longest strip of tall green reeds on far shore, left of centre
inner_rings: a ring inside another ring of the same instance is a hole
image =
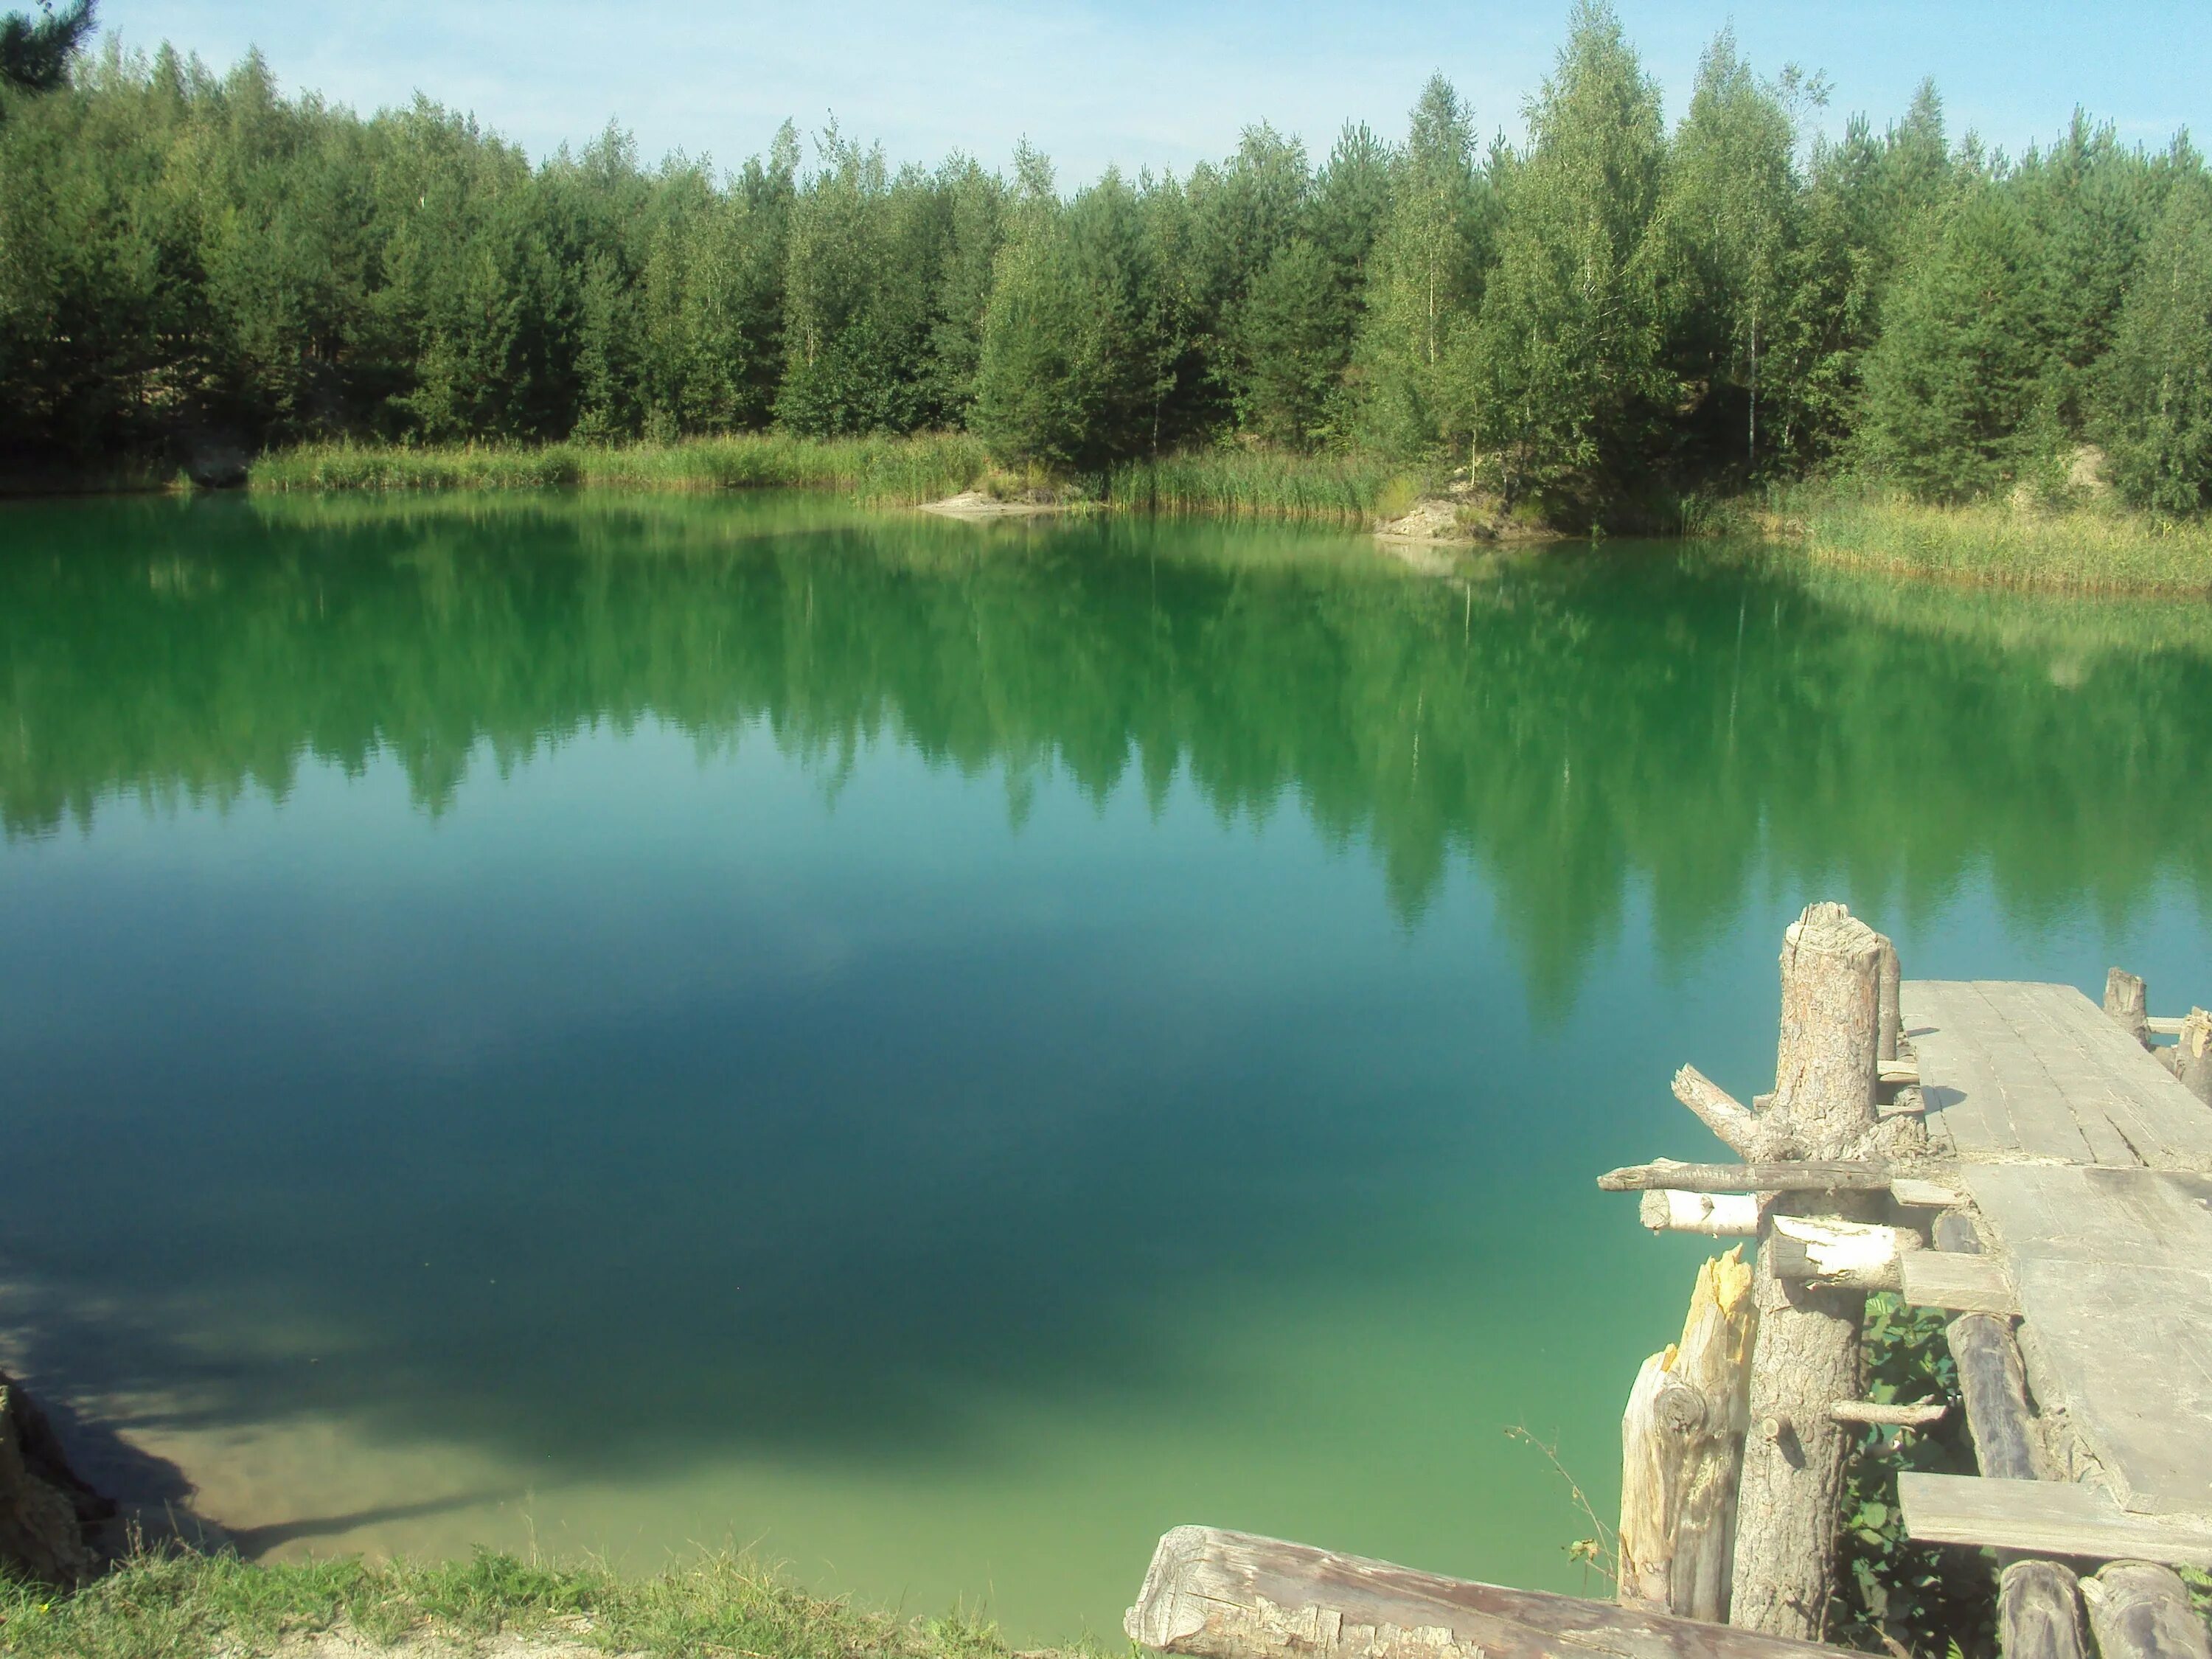
[[[967,489],[984,451],[967,434],[794,438],[781,431],[672,445],[303,445],[263,456],[259,491],[332,489],[849,489],[914,504]]]

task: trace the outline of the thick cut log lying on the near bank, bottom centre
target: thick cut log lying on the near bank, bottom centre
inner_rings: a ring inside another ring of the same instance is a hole
[[[1444,1579],[1210,1526],[1159,1540],[1130,1641],[1192,1659],[1836,1659],[1721,1624]]]

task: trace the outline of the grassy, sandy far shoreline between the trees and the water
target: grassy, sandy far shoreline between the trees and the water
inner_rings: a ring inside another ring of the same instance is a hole
[[[849,491],[863,507],[951,520],[1068,513],[1254,518],[1336,524],[1385,546],[1438,555],[1579,540],[1535,518],[1469,513],[1467,487],[1360,456],[1194,451],[1110,471],[1097,498],[1015,500],[978,489],[991,473],[967,434],[792,438],[737,434],[670,445],[305,445],[246,467],[248,495],[398,495],[734,489]],[[139,462],[0,480],[0,500],[197,493],[186,473]],[[2081,597],[2212,599],[2212,520],[2152,520],[2099,500],[1927,504],[1847,482],[1759,495],[1688,498],[1650,540],[1754,542],[1783,564],[1898,584]],[[1478,524],[1453,520],[1475,518]],[[1641,540],[1641,538],[1639,538]]]

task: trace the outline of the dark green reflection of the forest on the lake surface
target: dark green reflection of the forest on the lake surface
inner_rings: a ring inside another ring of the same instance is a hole
[[[1212,522],[949,524],[825,498],[7,509],[0,821],[283,799],[657,719],[834,779],[900,743],[1026,787],[1303,812],[1416,922],[1455,860],[1537,1002],[1648,891],[1661,951],[1761,869],[1924,914],[2212,902],[2212,608],[1803,580],[1610,544],[1464,560]]]

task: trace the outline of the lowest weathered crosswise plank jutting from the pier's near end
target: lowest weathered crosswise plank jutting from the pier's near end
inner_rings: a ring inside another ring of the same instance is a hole
[[[1900,1473],[1898,1509],[1907,1537],[1922,1544],[2212,1566],[2212,1526],[2130,1515],[2108,1493],[2070,1480]]]

